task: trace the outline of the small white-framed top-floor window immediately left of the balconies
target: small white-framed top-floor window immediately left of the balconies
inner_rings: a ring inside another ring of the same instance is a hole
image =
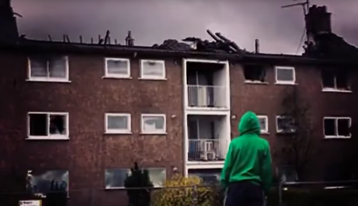
[[[141,78],[165,79],[165,62],[159,60],[141,60]]]

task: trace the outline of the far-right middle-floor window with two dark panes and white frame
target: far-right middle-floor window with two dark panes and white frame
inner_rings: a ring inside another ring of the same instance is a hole
[[[325,138],[350,138],[351,121],[349,117],[323,118]]]

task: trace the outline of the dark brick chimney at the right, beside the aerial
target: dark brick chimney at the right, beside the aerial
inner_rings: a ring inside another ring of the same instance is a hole
[[[332,33],[331,15],[327,6],[312,5],[305,16],[306,32],[309,40],[317,34]]]

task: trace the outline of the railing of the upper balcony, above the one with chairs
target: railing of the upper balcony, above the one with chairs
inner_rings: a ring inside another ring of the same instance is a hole
[[[226,87],[215,85],[187,85],[188,106],[226,108]]]

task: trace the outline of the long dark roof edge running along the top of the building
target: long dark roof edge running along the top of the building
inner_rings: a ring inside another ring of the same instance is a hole
[[[265,53],[215,53],[201,51],[179,51],[166,50],[145,46],[122,46],[122,45],[99,45],[69,42],[51,42],[41,40],[22,40],[13,43],[1,43],[0,51],[17,51],[17,52],[68,52],[68,53],[92,53],[106,55],[132,55],[139,53],[143,55],[161,55],[164,57],[181,57],[181,58],[208,58],[230,61],[285,61],[290,63],[335,63],[335,64],[358,64],[353,60],[336,60],[336,59],[317,59],[298,55],[285,54],[265,54]]]

